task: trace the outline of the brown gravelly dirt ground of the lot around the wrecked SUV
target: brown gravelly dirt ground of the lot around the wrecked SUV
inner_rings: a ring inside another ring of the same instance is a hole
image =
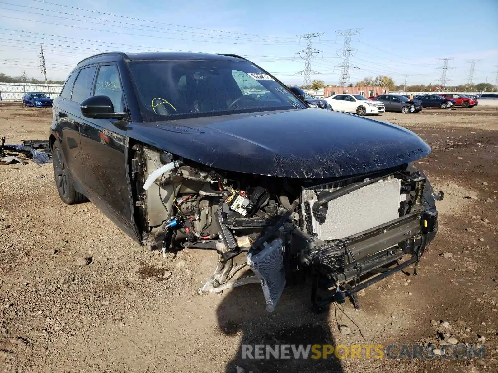
[[[0,103],[0,136],[46,139],[50,117],[50,108]],[[497,372],[498,110],[378,119],[432,147],[417,166],[445,199],[419,276],[408,269],[362,290],[359,312],[342,305],[365,339],[339,308],[311,312],[308,287],[288,287],[273,313],[259,284],[197,295],[215,253],[147,252],[92,203],[62,203],[52,165],[29,162],[0,166],[1,371]],[[84,258],[91,264],[82,266]],[[433,325],[440,321],[450,326]],[[440,345],[438,332],[459,344],[484,341],[484,360],[241,359],[243,343]]]

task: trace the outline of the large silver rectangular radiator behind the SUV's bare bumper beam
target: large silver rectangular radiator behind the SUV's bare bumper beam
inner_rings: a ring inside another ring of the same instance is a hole
[[[317,234],[321,240],[343,239],[399,217],[401,181],[390,175],[328,202],[328,212],[323,224],[315,219],[312,213],[313,204],[317,201],[315,190],[335,191],[363,180],[349,178],[303,187],[301,202],[306,231]]]

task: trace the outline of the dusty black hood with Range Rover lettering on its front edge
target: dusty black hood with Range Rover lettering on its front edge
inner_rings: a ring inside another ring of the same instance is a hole
[[[394,124],[315,109],[130,123],[127,134],[206,166],[304,179],[383,170],[431,151]]]

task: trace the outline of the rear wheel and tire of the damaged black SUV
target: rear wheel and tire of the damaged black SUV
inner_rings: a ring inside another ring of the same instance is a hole
[[[66,159],[60,144],[55,141],[52,147],[52,165],[54,167],[55,185],[62,202],[75,204],[86,201],[86,197],[77,192],[73,185],[71,173],[67,168]]]

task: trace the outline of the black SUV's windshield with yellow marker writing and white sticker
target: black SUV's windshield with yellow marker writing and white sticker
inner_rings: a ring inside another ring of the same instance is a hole
[[[248,61],[128,63],[145,121],[306,108]]]

